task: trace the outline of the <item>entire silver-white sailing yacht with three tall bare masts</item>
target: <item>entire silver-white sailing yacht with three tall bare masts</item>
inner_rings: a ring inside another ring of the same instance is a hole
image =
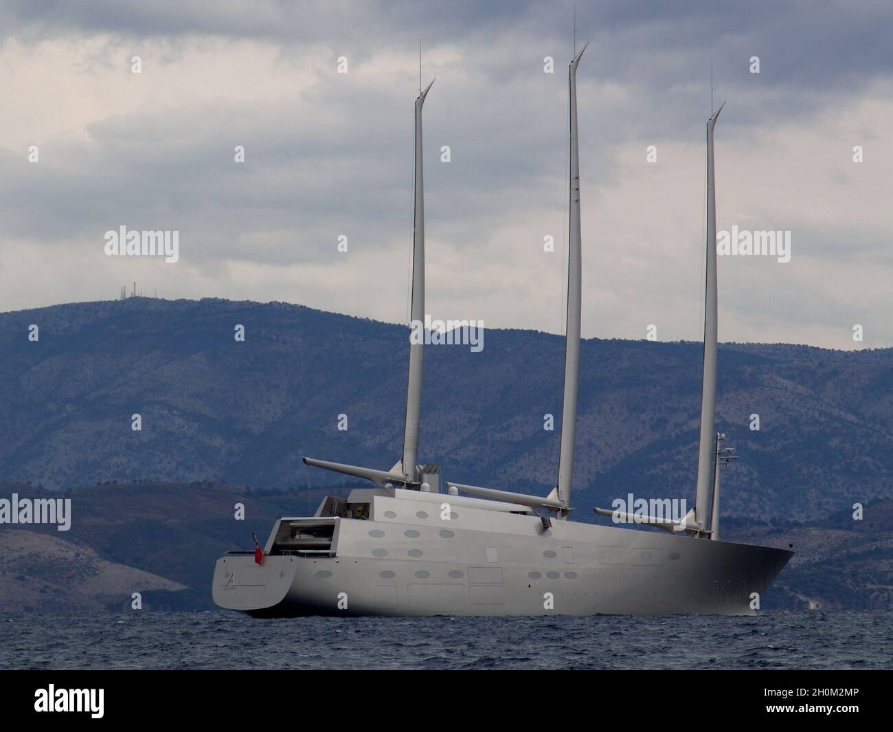
[[[555,490],[544,498],[501,488],[441,486],[439,467],[419,464],[423,350],[421,343],[411,343],[401,459],[386,470],[305,458],[309,466],[363,478],[373,487],[355,489],[346,498],[329,496],[313,517],[282,517],[263,549],[229,551],[217,560],[213,599],[222,608],[256,617],[755,614],[760,595],[793,552],[719,540],[714,125],[722,107],[707,121],[707,304],[696,508],[680,520],[647,517],[645,523],[658,531],[570,517],[582,292],[576,74],[585,50],[574,55],[568,72],[570,256]],[[424,319],[421,109],[429,90],[430,85],[420,89],[415,100],[411,312],[416,321]]]

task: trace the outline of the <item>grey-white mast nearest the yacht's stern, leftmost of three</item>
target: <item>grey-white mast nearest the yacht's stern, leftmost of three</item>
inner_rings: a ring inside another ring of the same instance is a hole
[[[431,84],[434,82],[431,81]],[[413,289],[410,308],[412,323],[425,322],[425,193],[422,175],[421,105],[431,84],[415,99],[415,211],[413,215]],[[423,327],[423,325],[422,325]],[[406,383],[406,421],[403,435],[402,471],[407,481],[418,480],[419,422],[421,420],[421,365],[424,343],[409,344],[409,377]]]

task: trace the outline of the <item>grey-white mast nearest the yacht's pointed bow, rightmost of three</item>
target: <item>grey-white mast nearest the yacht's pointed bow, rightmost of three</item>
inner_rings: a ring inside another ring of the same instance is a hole
[[[707,272],[704,307],[704,375],[701,382],[701,439],[697,450],[695,520],[706,526],[708,502],[714,482],[714,416],[716,411],[716,181],[714,178],[714,125],[725,102],[707,120]]]

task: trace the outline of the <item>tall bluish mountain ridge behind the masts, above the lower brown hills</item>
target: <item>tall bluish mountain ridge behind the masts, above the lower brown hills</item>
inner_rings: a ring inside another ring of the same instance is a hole
[[[387,469],[402,451],[404,326],[129,298],[2,314],[0,348],[9,481],[293,489],[344,484],[305,455]],[[575,517],[630,492],[693,501],[700,360],[693,342],[582,342]],[[563,339],[544,332],[487,330],[480,352],[426,347],[421,461],[455,482],[545,494],[562,374]],[[716,428],[740,456],[724,471],[725,516],[820,521],[890,498],[893,349],[722,344]]]

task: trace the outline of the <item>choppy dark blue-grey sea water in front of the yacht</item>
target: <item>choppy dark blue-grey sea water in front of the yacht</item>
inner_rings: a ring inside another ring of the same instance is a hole
[[[756,618],[3,615],[2,669],[891,669],[887,612]]]

